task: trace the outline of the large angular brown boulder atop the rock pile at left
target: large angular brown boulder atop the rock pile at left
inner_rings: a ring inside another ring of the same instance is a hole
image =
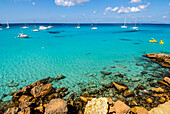
[[[37,85],[31,89],[31,94],[34,97],[45,96],[51,92],[53,89],[52,84]]]

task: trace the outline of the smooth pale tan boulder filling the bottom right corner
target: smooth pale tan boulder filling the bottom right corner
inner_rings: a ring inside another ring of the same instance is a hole
[[[151,109],[148,114],[170,114],[170,101]]]

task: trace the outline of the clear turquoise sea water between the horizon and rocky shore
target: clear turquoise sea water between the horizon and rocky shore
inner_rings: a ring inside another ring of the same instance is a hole
[[[70,91],[80,92],[81,87],[77,83],[86,87],[92,81],[100,87],[100,81],[105,81],[105,84],[114,81],[107,77],[102,80],[100,71],[103,67],[113,73],[126,73],[129,78],[136,77],[144,70],[142,66],[135,65],[136,57],[142,57],[144,53],[170,53],[170,25],[139,25],[138,31],[131,31],[133,25],[129,25],[128,29],[121,29],[121,25],[97,25],[97,30],[91,30],[90,25],[76,29],[76,25],[56,24],[39,32],[31,31],[33,25],[20,29],[22,26],[12,25],[10,29],[0,31],[1,95],[58,74],[66,78],[54,83],[54,87],[65,86]],[[21,32],[30,38],[17,38]],[[164,45],[149,43],[151,37],[158,42],[163,39]],[[116,65],[126,68],[110,69],[110,66]],[[91,74],[92,77],[88,76]],[[19,86],[8,87],[11,81],[18,82]],[[8,96],[4,100],[10,98]]]

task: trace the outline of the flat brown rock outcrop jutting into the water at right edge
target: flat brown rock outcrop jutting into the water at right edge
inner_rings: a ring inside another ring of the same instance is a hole
[[[163,67],[170,68],[170,55],[164,54],[164,53],[150,53],[143,55],[144,57],[148,57],[151,59],[151,61],[158,63],[159,65]]]

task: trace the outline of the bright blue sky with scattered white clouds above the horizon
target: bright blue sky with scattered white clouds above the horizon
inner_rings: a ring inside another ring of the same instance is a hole
[[[0,23],[169,23],[170,0],[0,0]]]

